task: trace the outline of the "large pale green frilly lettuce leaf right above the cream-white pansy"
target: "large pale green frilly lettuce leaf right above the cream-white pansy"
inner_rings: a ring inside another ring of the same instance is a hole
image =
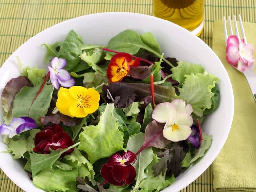
[[[202,117],[203,111],[207,108],[210,109],[212,105],[212,88],[215,87],[215,83],[219,81],[214,75],[204,72],[194,75],[184,75],[186,80],[183,83],[182,88],[178,88],[181,99],[184,99],[187,103],[190,103],[193,107],[193,113]]]

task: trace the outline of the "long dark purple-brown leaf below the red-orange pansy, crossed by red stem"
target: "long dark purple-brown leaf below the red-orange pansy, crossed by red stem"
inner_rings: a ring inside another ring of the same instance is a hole
[[[116,97],[120,97],[118,100],[119,106],[125,106],[127,100],[129,100],[133,94],[135,94],[135,102],[151,95],[150,84],[114,82],[109,86],[103,85],[102,87],[103,96],[107,102],[111,102],[111,99],[108,99],[107,97],[107,89],[114,100]],[[156,104],[171,102],[178,98],[174,87],[154,85],[154,93]]]

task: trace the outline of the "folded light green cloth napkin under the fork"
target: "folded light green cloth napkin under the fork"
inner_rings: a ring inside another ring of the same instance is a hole
[[[247,42],[256,49],[256,24],[243,22],[243,25]],[[212,43],[213,51],[228,72],[235,98],[234,118],[228,139],[213,162],[213,187],[216,191],[256,192],[256,103],[245,76],[225,59],[226,45],[221,20],[214,22]]]

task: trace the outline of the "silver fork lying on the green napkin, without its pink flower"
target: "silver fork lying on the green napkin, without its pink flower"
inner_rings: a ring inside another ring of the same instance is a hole
[[[244,27],[241,19],[241,15],[238,16],[242,38],[244,39],[245,44],[247,44],[245,33],[244,33]],[[223,23],[224,23],[224,36],[225,36],[225,43],[227,45],[227,39],[228,39],[228,33],[227,33],[227,27],[226,27],[226,18],[223,17]],[[234,15],[234,24],[235,24],[235,30],[236,30],[236,36],[238,37],[238,40],[240,42],[240,36],[239,31],[236,23],[236,16]],[[230,36],[233,35],[232,25],[231,25],[231,19],[230,16],[228,16],[228,25],[229,25],[229,32]],[[234,67],[235,68],[235,67]],[[237,68],[236,68],[237,69]],[[237,69],[240,71],[239,69]],[[244,73],[244,76],[246,77],[246,80],[250,86],[250,89],[252,91],[253,99],[256,102],[256,74],[254,73],[254,63],[250,68],[246,68],[245,71],[240,71],[241,73]]]

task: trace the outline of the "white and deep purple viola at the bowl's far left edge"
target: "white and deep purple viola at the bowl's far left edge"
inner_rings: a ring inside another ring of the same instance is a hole
[[[20,133],[36,128],[34,119],[30,117],[12,118],[9,125],[0,126],[1,135],[9,135],[9,138],[19,135]]]

